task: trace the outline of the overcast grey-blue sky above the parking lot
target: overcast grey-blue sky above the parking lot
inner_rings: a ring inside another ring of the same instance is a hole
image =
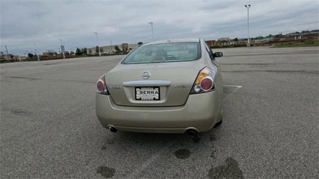
[[[1,48],[58,51],[183,37],[251,37],[319,28],[319,0],[0,0]]]

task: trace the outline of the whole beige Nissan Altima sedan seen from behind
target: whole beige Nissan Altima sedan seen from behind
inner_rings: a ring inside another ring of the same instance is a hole
[[[97,82],[96,115],[112,132],[198,133],[223,117],[223,81],[203,39],[135,48]]]

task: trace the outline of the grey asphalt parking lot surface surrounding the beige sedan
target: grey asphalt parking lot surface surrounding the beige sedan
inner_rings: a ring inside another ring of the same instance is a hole
[[[214,51],[224,121],[197,137],[100,125],[95,84],[123,56],[1,64],[0,178],[319,178],[319,48]]]

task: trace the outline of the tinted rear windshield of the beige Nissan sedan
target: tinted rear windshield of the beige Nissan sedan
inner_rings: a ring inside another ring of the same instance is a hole
[[[122,64],[180,62],[197,60],[200,57],[199,42],[162,43],[138,47]]]

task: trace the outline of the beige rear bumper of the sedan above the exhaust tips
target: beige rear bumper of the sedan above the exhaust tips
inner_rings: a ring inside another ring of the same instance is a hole
[[[137,107],[116,105],[110,95],[96,94],[96,115],[104,127],[120,131],[183,133],[187,128],[210,130],[220,109],[215,91],[189,95],[182,106]]]

